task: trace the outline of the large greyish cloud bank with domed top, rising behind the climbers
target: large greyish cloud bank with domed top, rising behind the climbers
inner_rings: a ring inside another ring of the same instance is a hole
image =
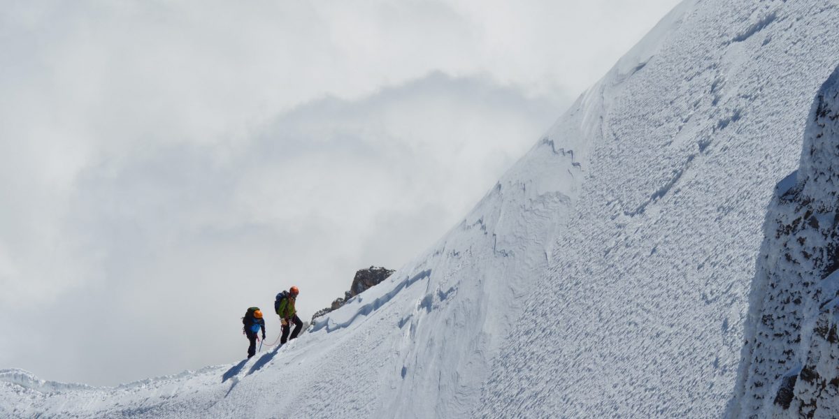
[[[76,246],[53,262],[85,281],[43,300],[42,314],[3,313],[20,324],[11,339],[42,325],[37,349],[10,359],[94,383],[235,359],[242,308],[270,307],[296,284],[308,317],[355,270],[399,267],[456,225],[567,101],[434,73],[358,101],[310,101],[235,147],[160,143],[91,163],[56,234]]]

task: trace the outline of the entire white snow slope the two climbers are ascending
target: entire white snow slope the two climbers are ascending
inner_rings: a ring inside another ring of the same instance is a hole
[[[744,414],[767,205],[839,62],[837,5],[685,1],[460,225],[311,333],[116,388],[0,371],[0,416]]]

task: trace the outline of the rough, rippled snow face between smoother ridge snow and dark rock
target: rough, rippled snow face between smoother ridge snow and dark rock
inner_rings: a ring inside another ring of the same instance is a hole
[[[726,414],[767,204],[839,60],[837,4],[685,3],[644,65],[607,75],[555,264],[473,416]]]

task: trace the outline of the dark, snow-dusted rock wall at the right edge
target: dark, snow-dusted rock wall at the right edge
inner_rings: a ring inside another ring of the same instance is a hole
[[[767,215],[732,416],[839,417],[839,69],[808,121]]]

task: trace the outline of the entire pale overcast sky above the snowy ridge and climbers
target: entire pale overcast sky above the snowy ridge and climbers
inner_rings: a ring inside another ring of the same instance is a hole
[[[679,2],[0,3],[0,368],[115,385],[417,256]]]

